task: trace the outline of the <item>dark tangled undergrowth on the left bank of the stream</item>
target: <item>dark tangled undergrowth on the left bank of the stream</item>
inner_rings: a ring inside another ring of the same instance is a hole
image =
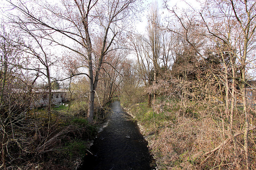
[[[88,123],[83,111],[76,112],[78,107],[56,107],[50,114],[44,108],[32,109],[24,114],[22,126],[13,129],[17,140],[7,145],[7,169],[75,169],[97,133],[96,124]]]

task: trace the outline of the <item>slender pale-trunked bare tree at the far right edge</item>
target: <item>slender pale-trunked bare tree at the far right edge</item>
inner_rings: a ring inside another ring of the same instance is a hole
[[[232,7],[232,16],[236,18],[238,23],[237,28],[240,30],[236,37],[240,44],[238,47],[238,58],[240,61],[241,72],[241,92],[244,107],[245,129],[244,129],[244,150],[246,154],[246,168],[250,170],[250,157],[248,151],[248,134],[249,134],[249,113],[247,110],[246,97],[246,66],[248,65],[249,55],[252,54],[252,49],[255,48],[256,36],[256,2],[254,0],[230,0],[226,5]]]

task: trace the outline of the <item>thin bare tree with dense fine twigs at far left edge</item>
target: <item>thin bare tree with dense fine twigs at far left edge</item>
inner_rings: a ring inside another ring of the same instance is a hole
[[[0,168],[6,169],[10,160],[9,143],[15,139],[15,126],[23,121],[30,105],[30,82],[20,70],[22,39],[14,31],[0,30]]]

